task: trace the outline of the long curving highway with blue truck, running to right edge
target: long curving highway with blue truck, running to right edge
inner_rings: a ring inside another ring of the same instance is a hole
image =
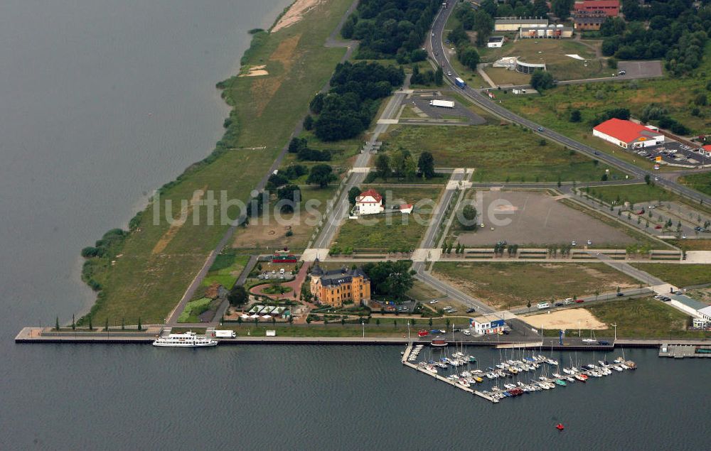
[[[562,134],[559,134],[556,131],[545,129],[545,127],[541,124],[536,124],[533,121],[529,121],[528,119],[518,116],[517,114],[508,111],[508,109],[501,107],[500,104],[492,102],[490,99],[488,99],[488,97],[483,96],[481,92],[477,91],[476,89],[472,89],[469,86],[464,87],[464,89],[459,89],[455,87],[453,80],[454,77],[459,77],[459,74],[456,72],[456,70],[454,70],[454,67],[451,67],[443,43],[444,26],[447,23],[447,19],[451,15],[452,11],[454,11],[454,1],[449,0],[448,3],[449,7],[446,9],[441,9],[439,13],[437,13],[437,16],[434,18],[432,33],[430,33],[427,42],[427,48],[430,53],[430,58],[432,58],[434,63],[439,66],[442,66],[442,69],[444,70],[445,74],[447,74],[447,72],[451,72],[451,77],[445,78],[447,78],[447,82],[452,85],[454,89],[460,91],[466,97],[469,97],[469,99],[471,99],[471,101],[475,104],[479,105],[479,107],[486,109],[486,111],[491,112],[492,114],[496,114],[496,116],[499,116],[515,124],[520,124],[522,126],[528,127],[540,136],[545,136],[546,138],[549,138],[552,141],[556,141],[557,143],[561,143],[562,145],[572,148],[575,151],[584,153],[585,155],[591,158],[596,158],[599,161],[603,161],[604,163],[613,165],[616,168],[624,170],[626,173],[634,175],[636,178],[644,178],[645,175],[650,175],[650,177],[653,178],[657,175],[656,173],[639,168],[638,166],[632,163],[628,163],[624,160],[611,156],[608,153],[598,151],[595,148],[574,141],[573,139],[568,138],[567,136],[563,136]],[[696,202],[703,202],[707,205],[711,204],[711,196],[707,196],[705,194],[687,188],[684,185],[675,183],[673,180],[659,178],[656,183],[657,185],[660,185],[663,188],[675,192],[678,195],[688,197],[689,199],[695,200]]]

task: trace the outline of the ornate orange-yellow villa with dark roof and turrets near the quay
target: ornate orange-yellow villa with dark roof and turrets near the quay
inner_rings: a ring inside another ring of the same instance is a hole
[[[336,269],[324,271],[316,260],[311,269],[311,294],[321,304],[342,307],[344,303],[368,303],[370,300],[370,279],[363,268]]]

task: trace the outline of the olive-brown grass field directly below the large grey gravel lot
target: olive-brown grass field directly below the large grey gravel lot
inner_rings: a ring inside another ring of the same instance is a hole
[[[475,298],[511,308],[638,286],[604,263],[434,263],[433,273]]]

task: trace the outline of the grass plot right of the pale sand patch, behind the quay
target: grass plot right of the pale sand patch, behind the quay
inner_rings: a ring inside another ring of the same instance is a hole
[[[711,336],[708,332],[687,331],[690,317],[654,298],[613,300],[590,305],[587,310],[601,322],[616,324],[619,338]],[[606,331],[596,330],[595,333],[598,337],[612,337],[614,330],[611,327]]]

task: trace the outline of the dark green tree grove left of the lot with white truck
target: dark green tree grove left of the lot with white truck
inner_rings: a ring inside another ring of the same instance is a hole
[[[390,95],[404,80],[402,67],[365,62],[339,64],[331,77],[331,91],[316,94],[309,105],[311,112],[319,115],[313,124],[314,134],[322,141],[358,136],[368,129],[378,112],[378,100]]]

